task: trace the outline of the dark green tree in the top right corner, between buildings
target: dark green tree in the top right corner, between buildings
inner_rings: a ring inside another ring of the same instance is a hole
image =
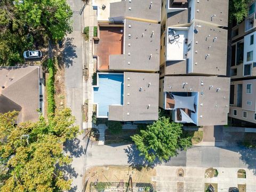
[[[229,20],[236,20],[240,23],[248,13],[248,3],[250,0],[230,0],[229,1]]]

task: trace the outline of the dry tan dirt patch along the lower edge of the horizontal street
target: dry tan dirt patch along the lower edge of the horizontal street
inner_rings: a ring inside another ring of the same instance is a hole
[[[155,188],[156,183],[151,181],[151,177],[156,177],[156,170],[148,167],[129,166],[96,166],[91,167],[85,173],[84,182],[87,181],[85,191],[90,191],[90,183],[117,183],[117,186],[129,185],[129,177],[133,183],[151,183]]]

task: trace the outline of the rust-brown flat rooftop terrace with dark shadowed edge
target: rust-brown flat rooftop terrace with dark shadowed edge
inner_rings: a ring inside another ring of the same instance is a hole
[[[99,41],[94,42],[94,54],[98,55],[99,70],[107,70],[109,55],[123,54],[123,27],[100,27]]]

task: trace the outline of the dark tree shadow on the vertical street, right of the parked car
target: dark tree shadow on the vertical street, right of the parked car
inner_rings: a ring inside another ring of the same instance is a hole
[[[73,66],[73,59],[77,58],[76,46],[73,44],[73,39],[74,38],[67,37],[64,44],[63,61],[67,68]]]

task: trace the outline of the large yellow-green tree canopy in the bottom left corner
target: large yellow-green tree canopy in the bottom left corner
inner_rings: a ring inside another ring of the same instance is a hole
[[[18,113],[0,114],[0,191],[65,191],[61,167],[72,159],[63,154],[63,143],[78,134],[70,109],[50,121],[15,125]]]

